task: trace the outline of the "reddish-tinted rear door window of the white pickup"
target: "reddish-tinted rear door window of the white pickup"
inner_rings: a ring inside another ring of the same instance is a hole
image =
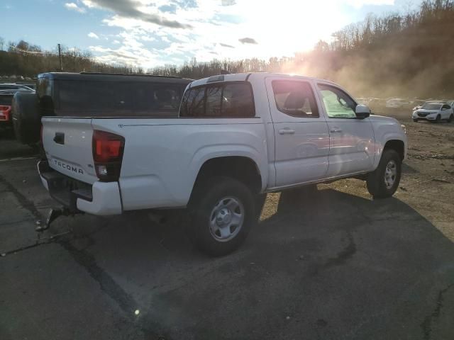
[[[275,80],[272,91],[277,110],[294,117],[319,117],[314,93],[306,81]]]

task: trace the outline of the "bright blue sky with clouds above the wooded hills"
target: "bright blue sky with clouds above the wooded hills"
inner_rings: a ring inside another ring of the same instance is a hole
[[[292,56],[367,13],[406,12],[421,0],[1,0],[0,37],[102,62],[145,68],[196,57]]]

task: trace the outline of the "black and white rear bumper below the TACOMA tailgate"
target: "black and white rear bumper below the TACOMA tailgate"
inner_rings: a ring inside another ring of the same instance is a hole
[[[122,212],[118,182],[77,181],[50,168],[47,161],[38,162],[38,173],[50,196],[71,212],[93,215],[118,215]]]

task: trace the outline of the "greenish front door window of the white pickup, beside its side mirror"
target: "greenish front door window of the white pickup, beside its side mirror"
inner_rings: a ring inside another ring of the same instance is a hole
[[[325,84],[319,84],[319,89],[329,118],[356,118],[356,103],[348,94]]]

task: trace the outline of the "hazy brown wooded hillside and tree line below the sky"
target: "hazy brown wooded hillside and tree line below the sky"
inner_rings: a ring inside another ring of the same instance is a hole
[[[58,71],[56,51],[0,38],[0,75],[33,77]],[[26,52],[23,52],[26,51]],[[30,53],[33,52],[33,53]],[[90,52],[62,50],[65,72],[153,73],[198,79],[229,72],[289,72],[323,77],[347,86],[355,96],[438,96],[454,98],[454,1],[424,1],[416,11],[374,16],[333,33],[311,52],[270,60],[191,60],[182,66],[144,70],[134,65],[96,62]]]

